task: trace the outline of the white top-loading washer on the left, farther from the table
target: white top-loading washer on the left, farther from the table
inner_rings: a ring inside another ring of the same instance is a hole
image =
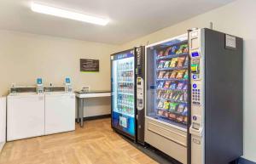
[[[10,93],[7,97],[7,140],[44,135],[44,94]]]

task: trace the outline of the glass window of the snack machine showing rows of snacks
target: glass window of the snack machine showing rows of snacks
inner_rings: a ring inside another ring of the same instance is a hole
[[[188,122],[188,37],[147,48],[147,116],[186,128]]]

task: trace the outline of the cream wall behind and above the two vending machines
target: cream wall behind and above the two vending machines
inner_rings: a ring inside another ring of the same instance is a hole
[[[177,25],[156,31],[148,36],[125,43],[121,50],[136,45],[158,42],[186,33],[193,27],[209,27],[243,37],[244,39],[244,157],[256,161],[256,1],[237,0]],[[237,76],[237,78],[242,78]]]

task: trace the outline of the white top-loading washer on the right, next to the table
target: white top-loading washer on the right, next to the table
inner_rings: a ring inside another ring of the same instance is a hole
[[[45,95],[45,134],[75,130],[75,94],[49,92]]]

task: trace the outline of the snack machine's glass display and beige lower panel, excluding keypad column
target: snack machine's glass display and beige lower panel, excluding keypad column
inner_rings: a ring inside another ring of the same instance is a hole
[[[145,142],[187,163],[189,149],[188,35],[146,47]]]

